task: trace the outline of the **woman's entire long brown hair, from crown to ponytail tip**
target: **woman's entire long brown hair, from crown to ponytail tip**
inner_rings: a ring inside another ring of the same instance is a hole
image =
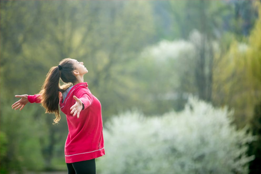
[[[76,82],[76,76],[73,74],[74,70],[71,58],[63,59],[58,66],[53,66],[46,75],[46,79],[42,86],[41,91],[41,104],[46,109],[45,113],[54,113],[54,123],[58,123],[61,119],[59,114],[59,93],[65,91],[72,83]],[[60,86],[59,80],[65,84]]]

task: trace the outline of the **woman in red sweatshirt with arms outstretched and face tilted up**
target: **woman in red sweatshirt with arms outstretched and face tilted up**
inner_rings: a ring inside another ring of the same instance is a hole
[[[69,130],[64,148],[69,174],[96,173],[95,158],[105,154],[101,104],[83,81],[86,73],[83,62],[63,59],[49,70],[39,94],[16,95],[21,99],[12,105],[12,109],[22,110],[28,102],[41,103],[46,113],[55,113],[54,124],[61,119],[60,105]],[[60,78],[69,85],[60,86]]]

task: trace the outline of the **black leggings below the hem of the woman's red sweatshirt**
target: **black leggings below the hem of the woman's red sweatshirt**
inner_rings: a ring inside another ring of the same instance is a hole
[[[66,163],[68,174],[96,174],[95,159]]]

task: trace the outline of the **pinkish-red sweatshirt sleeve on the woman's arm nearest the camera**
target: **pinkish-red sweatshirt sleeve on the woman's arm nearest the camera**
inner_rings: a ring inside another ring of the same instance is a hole
[[[84,105],[84,109],[88,108],[93,102],[93,95],[88,89],[80,89],[76,92],[75,96],[80,99]]]

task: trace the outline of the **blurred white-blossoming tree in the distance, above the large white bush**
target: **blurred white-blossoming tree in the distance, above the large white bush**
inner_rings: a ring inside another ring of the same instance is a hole
[[[145,48],[140,53],[139,60],[131,66],[135,67],[135,74],[138,74],[137,88],[141,88],[139,91],[143,91],[140,95],[147,94],[144,98],[148,100],[165,100],[164,95],[171,94],[168,95],[167,100],[176,100],[182,97],[172,97],[172,95],[194,93],[195,88],[191,87],[196,85],[194,80],[195,54],[194,45],[186,40],[162,40]],[[154,95],[155,91],[160,91],[161,94]],[[159,105],[153,104],[156,105],[155,107]],[[173,103],[172,106],[167,105],[164,105],[165,108],[173,107]],[[174,108],[177,108],[176,105]]]

